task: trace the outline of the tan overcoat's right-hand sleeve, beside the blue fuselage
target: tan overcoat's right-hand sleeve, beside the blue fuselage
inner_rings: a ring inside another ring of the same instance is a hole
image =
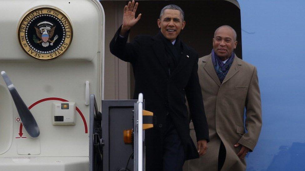
[[[251,151],[253,151],[262,128],[261,96],[258,86],[256,67],[254,68],[252,78],[249,84],[245,107],[245,125],[247,132],[242,135],[238,143],[243,146],[246,146]]]

